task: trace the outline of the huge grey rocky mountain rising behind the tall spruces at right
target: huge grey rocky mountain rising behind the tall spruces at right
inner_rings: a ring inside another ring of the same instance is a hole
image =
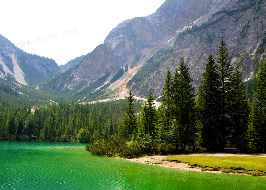
[[[210,53],[216,56],[222,37],[232,63],[239,62],[249,79],[256,75],[259,59],[265,58],[265,4],[263,0],[167,0],[147,17],[119,23],[103,44],[56,84],[62,89],[86,89],[105,76],[100,87],[108,84],[106,88],[117,95],[132,88],[137,96],[145,97],[149,90],[160,96],[167,69],[173,73],[183,55],[198,86],[206,59]]]

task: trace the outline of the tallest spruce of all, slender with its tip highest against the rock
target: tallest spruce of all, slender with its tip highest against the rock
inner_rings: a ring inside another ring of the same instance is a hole
[[[226,128],[227,128],[227,121],[226,121],[226,114],[231,112],[231,108],[229,107],[229,102],[231,100],[231,88],[232,88],[232,65],[228,49],[226,48],[226,43],[222,38],[220,41],[220,46],[218,48],[218,55],[216,57],[219,74],[220,74],[220,83],[221,83],[221,95],[222,95],[222,136],[223,136],[223,144],[220,148],[226,146]]]

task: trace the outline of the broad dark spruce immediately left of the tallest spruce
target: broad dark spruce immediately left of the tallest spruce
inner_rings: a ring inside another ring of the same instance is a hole
[[[210,54],[203,80],[198,88],[198,118],[202,121],[201,145],[215,150],[223,143],[221,123],[221,84],[219,82],[218,66]]]

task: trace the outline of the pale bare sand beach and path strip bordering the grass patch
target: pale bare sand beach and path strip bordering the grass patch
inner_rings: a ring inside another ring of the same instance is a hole
[[[191,154],[184,154],[184,155],[194,155],[194,156],[199,156],[199,155],[204,155],[204,156],[218,156],[218,157],[224,157],[224,156],[260,156],[260,157],[266,157],[266,155],[252,155],[252,154],[230,154],[230,153],[191,153]],[[180,155],[181,156],[181,155]],[[139,158],[132,158],[132,159],[126,159],[130,161],[135,161],[135,162],[140,162],[140,163],[147,163],[147,164],[152,164],[152,163],[160,163],[156,164],[162,167],[171,167],[171,168],[179,168],[179,169],[187,169],[187,170],[193,170],[193,171],[202,171],[202,167],[194,167],[194,168],[189,168],[189,164],[184,164],[184,163],[176,163],[175,161],[162,161],[168,156],[143,156]],[[155,165],[155,164],[153,164]],[[206,172],[212,172],[212,173],[222,173],[221,170],[219,171],[206,171]],[[246,174],[244,174],[246,175]]]

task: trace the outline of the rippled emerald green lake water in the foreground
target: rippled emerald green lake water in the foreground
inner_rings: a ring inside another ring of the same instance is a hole
[[[85,151],[86,143],[0,141],[0,189],[266,189],[266,178],[166,168]]]

